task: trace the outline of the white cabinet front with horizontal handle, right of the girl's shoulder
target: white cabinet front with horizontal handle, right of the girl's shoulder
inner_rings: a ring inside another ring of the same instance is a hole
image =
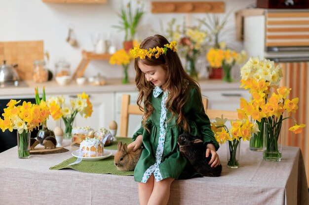
[[[250,93],[245,89],[202,90],[202,97],[208,99],[208,109],[236,111],[239,109],[239,99],[249,100]]]

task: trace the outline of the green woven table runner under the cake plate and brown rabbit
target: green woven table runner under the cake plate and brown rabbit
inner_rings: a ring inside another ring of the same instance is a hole
[[[129,144],[132,142],[131,138],[116,138],[116,141],[113,142],[113,145],[106,146],[106,149],[117,149],[118,141],[122,143]],[[99,160],[99,161],[85,161],[82,160],[78,164],[68,166],[69,164],[75,162],[76,157],[71,157],[58,165],[50,167],[50,170],[61,170],[65,168],[74,169],[78,172],[84,173],[96,173],[96,174],[112,174],[112,175],[121,175],[121,176],[132,176],[134,175],[133,171],[118,171],[114,165],[114,156]]]

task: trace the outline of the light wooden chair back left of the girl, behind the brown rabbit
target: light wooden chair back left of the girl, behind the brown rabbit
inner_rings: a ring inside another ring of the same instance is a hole
[[[120,111],[120,137],[128,137],[129,115],[144,115],[138,105],[130,105],[130,95],[123,94]]]

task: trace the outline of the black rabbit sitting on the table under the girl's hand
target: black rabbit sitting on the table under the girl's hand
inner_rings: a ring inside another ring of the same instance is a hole
[[[211,154],[205,156],[206,146],[203,146],[203,141],[191,134],[181,134],[177,143],[180,153],[187,157],[194,169],[203,176],[220,176],[222,166],[210,167],[208,164],[211,159]]]

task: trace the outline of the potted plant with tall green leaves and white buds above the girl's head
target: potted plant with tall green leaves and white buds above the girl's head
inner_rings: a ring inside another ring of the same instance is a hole
[[[131,2],[129,2],[126,7],[123,5],[121,6],[120,14],[118,14],[120,17],[120,25],[114,27],[124,30],[124,50],[128,51],[133,48],[136,29],[144,13],[144,5],[136,5],[134,9]]]

